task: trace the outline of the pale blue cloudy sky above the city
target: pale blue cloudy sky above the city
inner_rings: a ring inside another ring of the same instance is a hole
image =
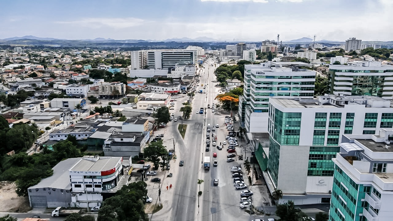
[[[12,0],[0,39],[392,41],[393,0]]]

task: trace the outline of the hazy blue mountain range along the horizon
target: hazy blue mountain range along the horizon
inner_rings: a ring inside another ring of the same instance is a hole
[[[231,41],[231,40],[217,40],[217,39],[213,39],[210,37],[196,37],[196,38],[188,38],[188,37],[182,37],[182,38],[170,38],[170,39],[164,39],[164,40],[142,40],[142,39],[125,39],[125,40],[115,40],[115,39],[105,39],[102,37],[97,37],[95,39],[57,39],[57,38],[48,38],[48,37],[36,37],[33,35],[25,35],[22,37],[11,37],[11,38],[6,38],[6,39],[0,39],[1,41],[13,41],[13,40],[21,40],[21,39],[30,39],[30,40],[41,40],[41,41],[122,41],[125,43],[137,43],[137,42],[242,42],[242,41]],[[289,40],[289,41],[282,41],[283,43],[296,43],[296,42],[312,42],[313,39],[309,38],[309,37],[302,37],[299,39],[293,39],[293,40]],[[373,40],[371,40],[373,41]],[[243,41],[243,42],[259,42],[259,41]],[[319,40],[316,42],[329,42],[329,43],[341,43],[341,42],[345,42],[345,41],[331,41],[331,40]],[[366,41],[365,41],[366,42]],[[384,42],[384,41],[380,41],[380,42]]]

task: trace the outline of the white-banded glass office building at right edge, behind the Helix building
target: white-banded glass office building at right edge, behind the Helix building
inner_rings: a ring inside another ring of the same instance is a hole
[[[379,61],[329,65],[329,94],[393,99],[393,66]]]

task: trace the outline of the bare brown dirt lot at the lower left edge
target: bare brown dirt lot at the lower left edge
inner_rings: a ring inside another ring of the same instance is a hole
[[[18,197],[15,182],[0,182],[0,212],[27,212],[31,210],[28,197]]]

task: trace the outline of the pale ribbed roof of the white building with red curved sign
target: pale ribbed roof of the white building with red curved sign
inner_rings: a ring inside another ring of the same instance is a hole
[[[122,157],[84,156],[69,171],[101,172],[116,167]],[[68,180],[70,182],[70,180]]]

